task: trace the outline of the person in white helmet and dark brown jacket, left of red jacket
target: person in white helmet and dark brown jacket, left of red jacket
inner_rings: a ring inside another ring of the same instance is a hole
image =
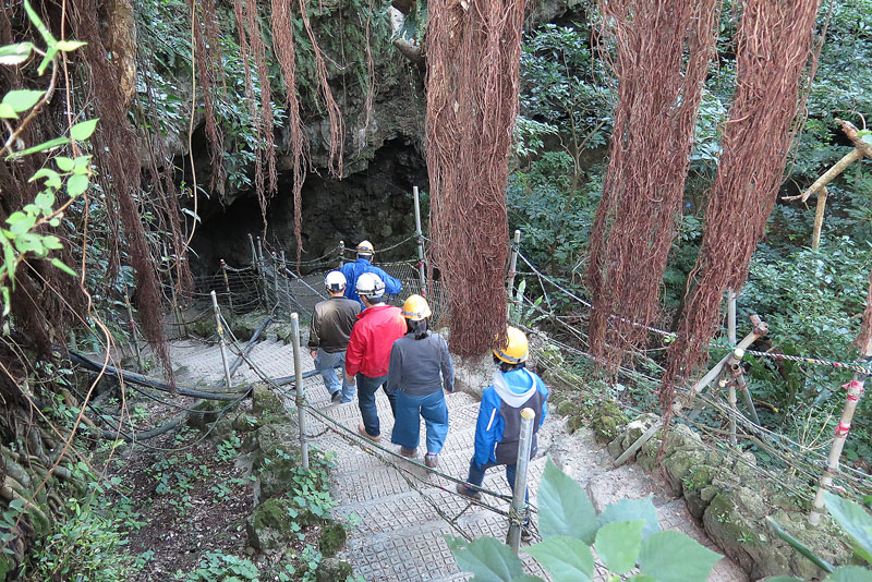
[[[312,327],[308,331],[308,347],[315,360],[315,369],[324,378],[324,386],[330,392],[330,400],[351,402],[354,397],[354,384],[346,381],[346,350],[351,338],[351,328],[361,313],[356,301],[346,299],[346,277],[338,270],[331,270],[324,278],[324,287],[330,298],[315,305],[312,314]],[[342,380],[336,375],[336,368],[342,368]]]

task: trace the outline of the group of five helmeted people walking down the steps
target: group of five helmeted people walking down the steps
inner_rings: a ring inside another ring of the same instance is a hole
[[[402,283],[372,264],[368,241],[358,245],[354,263],[325,277],[329,299],[315,305],[308,347],[334,403],[350,402],[358,393],[362,422],[358,431],[374,442],[382,439],[376,392],[384,390],[393,414],[391,442],[407,458],[417,456],[421,419],[426,427],[424,463],[438,464],[448,435],[445,393],[455,389],[455,368],[448,344],[429,328],[427,301],[410,295],[402,308],[388,305],[388,295]],[[488,468],[505,465],[509,486],[514,471],[521,410],[535,413],[531,458],[536,433],[547,414],[548,389],[525,367],[529,345],[523,331],[506,330],[506,340],[493,350],[498,371],[482,396],[475,428],[475,453],[465,484],[458,493],[480,499],[479,488]],[[336,369],[342,368],[341,379]]]

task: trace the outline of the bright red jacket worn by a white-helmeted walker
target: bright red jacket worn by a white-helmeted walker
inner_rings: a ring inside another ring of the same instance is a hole
[[[346,352],[346,374],[377,378],[388,373],[390,349],[405,335],[402,311],[392,305],[373,305],[358,314]]]

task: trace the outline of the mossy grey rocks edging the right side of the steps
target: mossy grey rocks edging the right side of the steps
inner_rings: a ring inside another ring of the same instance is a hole
[[[608,446],[617,457],[659,419],[644,414],[630,422]],[[657,465],[662,433],[642,446],[637,463],[652,471]],[[790,573],[803,579],[823,578],[810,560],[783,542],[764,519],[771,516],[783,529],[833,563],[845,563],[849,550],[832,529],[808,525],[801,500],[779,493],[792,485],[761,476],[749,452],[720,452],[707,448],[686,425],[667,437],[663,468],[673,489],[681,493],[691,514],[702,520],[708,536],[738,562],[752,580]]]

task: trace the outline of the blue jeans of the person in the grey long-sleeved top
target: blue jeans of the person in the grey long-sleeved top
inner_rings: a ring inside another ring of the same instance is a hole
[[[397,421],[393,423],[391,442],[407,449],[416,449],[421,441],[421,417],[427,427],[427,452],[438,454],[448,435],[448,405],[441,388],[427,396],[407,396],[397,392]]]

